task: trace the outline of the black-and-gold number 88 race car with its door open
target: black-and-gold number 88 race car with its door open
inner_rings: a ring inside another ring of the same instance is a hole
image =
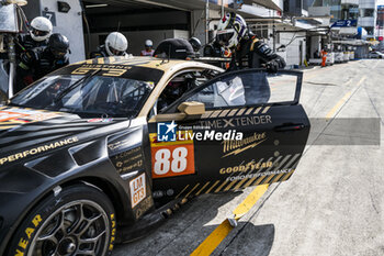
[[[189,199],[287,180],[302,73],[90,59],[0,107],[0,255],[109,255]]]

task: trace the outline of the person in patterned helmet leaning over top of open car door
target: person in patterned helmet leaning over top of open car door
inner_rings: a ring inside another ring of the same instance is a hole
[[[273,53],[262,41],[247,27],[246,21],[234,12],[227,13],[218,23],[216,41],[233,52],[229,70],[267,67],[276,73],[285,67],[285,60]]]

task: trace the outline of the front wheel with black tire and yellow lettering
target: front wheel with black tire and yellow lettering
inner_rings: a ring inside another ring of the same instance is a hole
[[[10,242],[8,255],[110,255],[116,221],[110,199],[87,185],[64,188],[26,215]]]

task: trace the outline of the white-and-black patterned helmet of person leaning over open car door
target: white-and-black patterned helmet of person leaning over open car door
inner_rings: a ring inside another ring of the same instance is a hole
[[[227,13],[217,25],[217,42],[226,47],[236,46],[247,33],[247,23],[239,14]]]

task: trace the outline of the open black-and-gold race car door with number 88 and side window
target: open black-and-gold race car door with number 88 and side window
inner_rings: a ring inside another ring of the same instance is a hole
[[[228,73],[154,116],[149,133],[155,198],[289,179],[310,126],[298,104],[301,85],[297,71]]]

